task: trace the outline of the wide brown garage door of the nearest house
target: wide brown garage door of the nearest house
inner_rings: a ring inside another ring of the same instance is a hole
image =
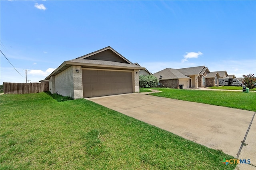
[[[82,70],[85,97],[132,93],[132,72]]]

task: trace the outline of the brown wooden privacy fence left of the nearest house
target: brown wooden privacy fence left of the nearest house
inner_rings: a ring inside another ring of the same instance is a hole
[[[49,91],[49,82],[4,83],[4,94],[27,94]]]

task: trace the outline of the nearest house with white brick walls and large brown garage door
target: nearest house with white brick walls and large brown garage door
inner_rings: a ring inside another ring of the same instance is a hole
[[[135,93],[140,91],[138,72],[144,69],[108,46],[64,61],[46,80],[51,93],[73,99]]]

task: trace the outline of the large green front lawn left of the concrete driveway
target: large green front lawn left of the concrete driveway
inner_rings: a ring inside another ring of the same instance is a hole
[[[85,99],[1,95],[0,169],[234,169],[233,159]]]

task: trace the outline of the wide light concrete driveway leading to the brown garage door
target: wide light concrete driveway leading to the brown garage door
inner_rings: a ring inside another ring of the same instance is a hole
[[[142,93],[95,97],[88,100],[134,117],[209,148],[237,156],[254,112],[202,103],[155,97]],[[255,117],[256,119],[256,117]],[[256,165],[256,120],[238,159]],[[240,169],[256,169],[240,164]]]

